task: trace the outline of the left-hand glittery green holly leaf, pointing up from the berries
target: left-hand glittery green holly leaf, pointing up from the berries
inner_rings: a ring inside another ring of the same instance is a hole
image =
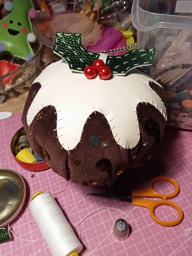
[[[83,73],[85,67],[93,65],[100,54],[83,48],[81,33],[55,33],[54,53],[68,63],[70,70]]]

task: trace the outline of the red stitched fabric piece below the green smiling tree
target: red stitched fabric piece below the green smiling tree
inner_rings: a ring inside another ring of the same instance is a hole
[[[19,64],[15,64],[15,63],[11,63],[9,61],[0,61],[0,76],[3,76],[13,70],[15,70],[17,67],[20,67]],[[9,84],[9,83],[12,83],[13,81],[13,77],[15,77],[18,73],[18,72],[15,72],[14,74],[8,76],[8,77],[5,77],[3,78],[3,85],[6,85],[6,84]]]

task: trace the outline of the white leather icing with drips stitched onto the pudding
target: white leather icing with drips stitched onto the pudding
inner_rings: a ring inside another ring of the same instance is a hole
[[[43,107],[54,106],[59,142],[65,150],[72,150],[81,140],[86,120],[98,111],[109,122],[117,144],[133,148],[140,139],[136,113],[139,102],[154,105],[167,120],[165,105],[150,88],[149,81],[154,80],[138,70],[108,80],[98,76],[87,79],[82,73],[70,71],[67,63],[60,60],[46,67],[34,81],[41,88],[29,108],[27,124],[30,126]]]

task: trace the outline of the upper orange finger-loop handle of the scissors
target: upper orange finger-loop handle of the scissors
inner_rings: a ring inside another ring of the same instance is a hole
[[[161,180],[167,181],[167,182],[170,182],[171,184],[173,184],[173,186],[175,187],[175,191],[168,195],[157,193],[153,189],[153,183],[156,181],[161,181]],[[154,198],[162,198],[162,199],[166,200],[166,199],[175,197],[178,193],[179,193],[179,185],[177,184],[177,182],[174,179],[171,179],[170,177],[166,177],[166,176],[159,176],[159,177],[155,177],[154,179],[152,179],[150,181],[148,189],[133,190],[132,196],[133,197],[154,197]]]

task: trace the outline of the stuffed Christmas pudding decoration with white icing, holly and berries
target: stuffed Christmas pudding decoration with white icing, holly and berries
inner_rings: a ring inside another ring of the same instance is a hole
[[[82,47],[80,34],[56,32],[54,52],[64,60],[35,79],[22,115],[31,147],[54,172],[83,186],[104,185],[157,151],[168,101],[162,87],[136,68],[150,65],[154,51],[100,55]],[[82,74],[86,67],[93,68],[91,79]],[[104,67],[111,76],[99,79]]]

